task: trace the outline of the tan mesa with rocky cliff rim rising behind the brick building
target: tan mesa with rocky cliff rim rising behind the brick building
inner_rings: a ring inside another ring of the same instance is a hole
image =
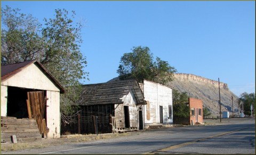
[[[219,82],[191,74],[175,74],[174,80],[167,85],[179,92],[187,92],[190,97],[203,100],[203,107],[207,107],[213,115],[219,115]],[[232,115],[232,102],[234,115],[237,115],[238,97],[228,89],[228,85],[220,83],[221,111],[229,111]]]

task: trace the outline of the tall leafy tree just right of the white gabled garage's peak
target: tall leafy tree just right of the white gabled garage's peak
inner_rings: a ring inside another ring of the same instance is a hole
[[[61,94],[60,104],[63,112],[70,113],[70,104],[76,102],[81,92],[79,79],[88,76],[88,73],[83,71],[87,64],[86,58],[79,49],[83,26],[73,22],[74,11],[71,17],[65,9],[57,9],[55,13],[54,19],[44,19],[46,23],[42,36],[45,46],[40,61],[66,88],[67,93]]]

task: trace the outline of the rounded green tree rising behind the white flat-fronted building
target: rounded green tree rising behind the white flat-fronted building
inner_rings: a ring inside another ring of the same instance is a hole
[[[143,79],[166,84],[173,80],[173,74],[177,70],[171,67],[167,61],[156,58],[148,47],[133,47],[131,53],[124,53],[117,70],[119,79]]]

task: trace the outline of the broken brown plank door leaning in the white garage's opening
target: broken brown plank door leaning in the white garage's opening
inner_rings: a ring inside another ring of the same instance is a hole
[[[45,103],[46,99],[44,97],[43,91],[28,92],[28,118],[34,118],[36,120],[40,134],[46,138],[46,121],[45,121]]]

